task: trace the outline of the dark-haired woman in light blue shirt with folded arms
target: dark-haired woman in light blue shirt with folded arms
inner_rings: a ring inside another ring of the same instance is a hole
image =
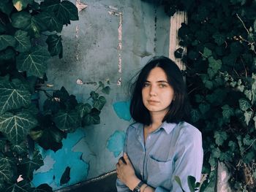
[[[135,81],[130,112],[135,123],[127,128],[124,155],[116,164],[117,191],[179,192],[175,176],[189,191],[189,175],[200,181],[202,137],[186,122],[186,85],[173,61],[148,61]]]

